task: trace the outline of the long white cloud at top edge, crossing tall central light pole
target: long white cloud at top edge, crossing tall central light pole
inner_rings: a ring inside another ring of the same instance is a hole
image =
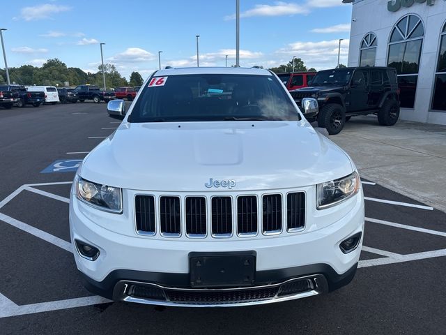
[[[323,0],[327,1],[327,0]],[[246,10],[240,13],[240,17],[253,17],[253,16],[281,16],[281,15],[294,15],[294,14],[306,14],[309,10],[307,6],[301,6],[297,3],[286,3],[283,1],[277,1],[274,5],[255,5],[254,8]],[[224,17],[225,20],[234,20],[236,15],[228,15]]]

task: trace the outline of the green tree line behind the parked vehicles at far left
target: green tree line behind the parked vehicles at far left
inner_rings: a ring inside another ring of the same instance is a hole
[[[104,64],[107,87],[141,86],[144,82],[141,75],[134,71],[129,80],[121,76],[113,64]],[[80,68],[68,68],[60,59],[48,59],[43,66],[22,65],[18,68],[8,68],[10,82],[24,85],[70,86],[94,84],[103,87],[102,65],[98,72],[85,73]],[[0,84],[6,83],[6,71],[0,69]]]

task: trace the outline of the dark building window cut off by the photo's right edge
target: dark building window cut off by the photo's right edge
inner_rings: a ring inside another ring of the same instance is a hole
[[[446,110],[446,23],[440,35],[440,51],[438,52],[432,109]]]

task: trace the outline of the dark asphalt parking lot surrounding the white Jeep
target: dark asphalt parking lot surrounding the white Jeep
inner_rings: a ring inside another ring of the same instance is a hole
[[[446,214],[364,180],[364,247],[328,295],[243,308],[112,303],[81,285],[68,198],[120,121],[105,103],[0,110],[1,334],[444,334]],[[298,255],[305,258],[305,255]]]

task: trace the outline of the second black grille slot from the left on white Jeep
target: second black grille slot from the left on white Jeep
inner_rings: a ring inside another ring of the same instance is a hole
[[[160,230],[166,236],[179,236],[181,233],[180,198],[160,198]]]

